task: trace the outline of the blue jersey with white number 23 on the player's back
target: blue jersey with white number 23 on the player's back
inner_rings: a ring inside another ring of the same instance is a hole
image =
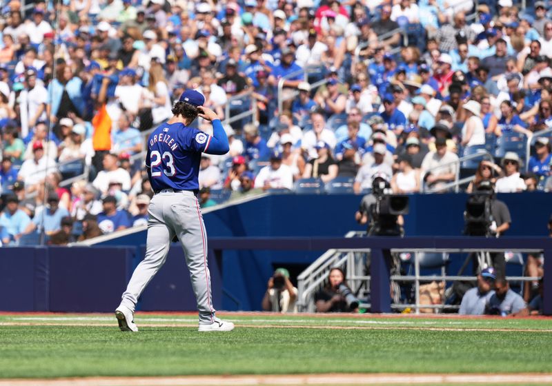
[[[183,123],[161,123],[148,138],[146,167],[154,192],[199,190],[199,161],[212,137]]]

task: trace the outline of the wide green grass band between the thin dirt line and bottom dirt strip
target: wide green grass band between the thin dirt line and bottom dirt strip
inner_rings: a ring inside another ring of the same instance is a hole
[[[526,332],[0,326],[0,377],[551,372],[550,347]]]

